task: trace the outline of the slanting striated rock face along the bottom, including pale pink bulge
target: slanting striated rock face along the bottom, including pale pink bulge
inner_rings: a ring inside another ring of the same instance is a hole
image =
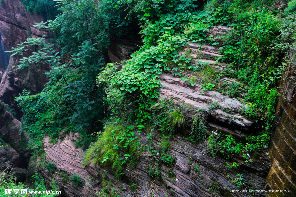
[[[170,148],[170,156],[175,158],[172,165],[157,167],[155,161],[151,160],[150,157],[141,156],[135,168],[126,168],[123,181],[117,181],[112,176],[110,168],[96,168],[93,165],[82,168],[83,151],[81,148],[75,148],[75,135],[78,136],[70,132],[64,139],[59,139],[57,144],[49,143],[49,137],[44,139],[46,161],[54,163],[57,166],[56,171],[67,172],[68,175],[79,175],[85,183],[84,187],[73,188],[69,180],[67,182],[62,181],[63,176],[59,175],[59,172],[52,174],[47,169],[42,169],[41,174],[44,176],[46,183],[51,183],[54,175],[54,180],[59,183],[60,190],[63,191],[65,196],[94,195],[96,191],[100,191],[102,188],[103,174],[106,175],[104,179],[112,183],[110,185],[111,190],[116,189],[117,194],[120,196],[242,196],[242,194],[230,192],[236,190],[237,185],[229,181],[235,180],[237,173],[240,173],[246,179],[246,183],[249,180],[251,181],[251,184],[248,185],[250,188],[263,189],[265,177],[270,168],[269,160],[266,157],[257,160],[253,155],[254,162],[251,165],[241,165],[239,170],[227,168],[226,163],[229,161],[220,157],[213,158],[206,152],[206,142],[200,146],[193,146],[183,140],[181,136],[175,136],[172,139]],[[145,132],[139,137],[143,146],[149,144]],[[160,150],[160,134],[155,133],[152,141],[155,148]],[[240,156],[231,157],[231,160],[234,161],[242,159]],[[199,170],[194,170],[196,165]],[[152,178],[149,175],[150,166],[153,169],[158,168],[161,170],[160,178]],[[104,170],[107,170],[108,173],[104,172]],[[169,170],[173,170],[174,177],[168,177]],[[129,183],[136,184],[136,193],[128,186]],[[209,190],[209,188],[212,188],[212,190]],[[246,194],[245,196],[252,195]],[[264,196],[264,193],[255,196]]]

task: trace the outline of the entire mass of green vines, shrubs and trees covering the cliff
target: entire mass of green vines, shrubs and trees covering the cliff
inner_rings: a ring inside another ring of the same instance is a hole
[[[245,116],[259,117],[263,122],[263,129],[260,128],[263,131],[247,138],[250,144],[243,144],[230,135],[222,138],[211,133],[207,139],[210,154],[214,156],[218,148],[240,154],[268,144],[275,114],[276,83],[285,66],[279,62],[283,61],[284,51],[292,47],[295,35],[291,32],[296,29],[293,16],[281,18],[276,16],[278,11],[263,6],[271,6],[271,1],[211,0],[207,1],[205,11],[197,10],[195,0],[58,2],[61,13],[57,18],[36,24],[37,28],[54,33],[54,44],[42,38],[28,39],[10,51],[12,55],[23,56],[26,50],[34,49],[32,56],[20,59],[20,69],[41,64],[52,68],[47,73],[50,81],[41,93],[21,95],[17,99],[24,113],[22,130],[30,134],[30,146],[34,150],[41,152],[45,135],[56,139],[64,129],[79,131],[82,140],[77,145],[86,149],[91,144],[83,165],[92,162],[112,168],[115,177],[120,179],[126,165],[135,166],[143,153],[137,134],[147,131],[149,145],[145,154],[156,162],[155,169],[149,165],[149,175],[159,177],[159,166],[174,161],[168,152],[170,137],[184,129],[183,114],[186,114],[183,108],[176,109],[171,100],[156,101],[157,89],[161,87],[159,76],[171,72],[194,86],[197,80],[184,75],[186,69],[200,71],[197,74],[203,78],[202,94],[214,87],[221,91],[227,89],[225,93],[229,96],[244,97]],[[285,10],[288,15],[294,13],[294,3],[291,1]],[[218,35],[223,41],[217,42],[217,38],[206,33],[214,25],[227,25],[232,31],[229,35]],[[115,35],[133,39],[139,26],[143,36],[139,51],[124,64],[104,65],[102,55],[107,54],[110,39]],[[217,61],[229,64],[229,68],[218,72],[201,62],[193,66],[190,55],[180,53],[189,40],[220,47],[223,58]],[[62,50],[58,52],[56,47]],[[214,76],[218,85],[211,82]],[[224,77],[236,78],[239,82],[219,83]],[[241,94],[242,88],[246,94]],[[218,107],[213,103],[207,110]],[[187,138],[192,143],[206,137],[205,110],[198,110],[193,119]],[[103,131],[98,132],[103,124]],[[152,142],[155,130],[163,134],[162,150],[155,149]],[[243,157],[247,158],[245,154]],[[239,165],[241,163],[234,162],[231,166]],[[237,182],[242,180],[240,176]],[[115,195],[116,191],[104,181],[100,195]]]

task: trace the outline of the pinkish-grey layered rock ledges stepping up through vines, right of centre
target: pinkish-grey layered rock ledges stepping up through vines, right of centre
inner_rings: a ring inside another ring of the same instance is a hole
[[[208,34],[213,35],[214,38],[221,39],[221,36],[230,31],[230,28],[224,26],[215,26]],[[203,65],[211,67],[213,71],[223,71],[229,69],[227,64],[216,61],[217,58],[222,57],[221,49],[211,45],[199,45],[190,42],[184,49],[192,58],[192,65]],[[177,70],[180,72],[180,69]],[[195,85],[190,85],[188,81],[183,78],[190,78],[195,81]],[[248,108],[236,98],[231,98],[228,95],[222,95],[215,91],[204,91],[202,93],[202,85],[204,79],[200,72],[191,72],[186,70],[181,73],[181,76],[175,76],[174,72],[167,72],[160,74],[160,84],[162,87],[159,89],[160,99],[171,98],[178,105],[191,105],[195,110],[201,108],[206,110],[207,115],[207,128],[221,129],[225,133],[232,134],[238,137],[246,137],[254,130],[255,120],[245,118],[242,112]],[[222,78],[224,83],[238,83],[235,79]],[[213,81],[214,84],[217,84]],[[243,86],[243,84],[241,84]],[[241,95],[244,95],[244,89],[239,88]],[[194,110],[193,110],[194,111]],[[192,127],[191,119],[193,114],[189,114],[187,125]]]

